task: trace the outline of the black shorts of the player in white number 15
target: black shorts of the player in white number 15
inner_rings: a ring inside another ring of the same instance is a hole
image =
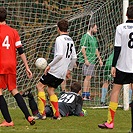
[[[55,76],[47,73],[40,78],[40,82],[49,87],[57,88],[62,82],[63,79],[56,78]]]

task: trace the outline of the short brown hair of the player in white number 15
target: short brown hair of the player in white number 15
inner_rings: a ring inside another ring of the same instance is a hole
[[[61,19],[58,23],[57,26],[60,31],[62,32],[67,32],[68,30],[68,20],[66,19]]]

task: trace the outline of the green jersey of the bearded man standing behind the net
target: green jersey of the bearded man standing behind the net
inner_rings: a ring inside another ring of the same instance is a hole
[[[80,40],[80,49],[85,47],[86,56],[91,64],[95,64],[96,49],[98,49],[97,39],[94,36],[90,36],[88,33],[84,34]],[[84,63],[84,57],[82,52],[79,54],[79,63]]]

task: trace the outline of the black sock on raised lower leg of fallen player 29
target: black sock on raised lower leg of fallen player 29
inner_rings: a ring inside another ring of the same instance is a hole
[[[32,114],[37,115],[39,113],[39,111],[38,111],[37,103],[36,103],[32,93],[30,93],[28,95],[28,101],[29,101],[29,107],[31,109]]]

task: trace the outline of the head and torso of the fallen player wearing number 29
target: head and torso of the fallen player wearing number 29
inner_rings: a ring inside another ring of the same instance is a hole
[[[70,90],[70,92],[62,94],[59,98],[58,103],[61,116],[84,116],[82,112],[83,100],[80,96],[81,85],[78,82],[74,82]]]

